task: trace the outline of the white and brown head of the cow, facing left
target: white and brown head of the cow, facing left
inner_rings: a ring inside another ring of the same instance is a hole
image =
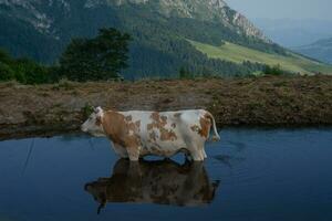
[[[93,113],[81,126],[82,131],[92,134],[93,136],[96,137],[105,136],[103,124],[102,124],[103,115],[104,115],[104,110],[102,109],[102,107],[94,108]]]

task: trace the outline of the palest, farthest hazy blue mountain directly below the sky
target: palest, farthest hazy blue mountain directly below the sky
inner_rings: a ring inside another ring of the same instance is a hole
[[[332,21],[329,20],[252,19],[252,22],[273,42],[286,48],[311,44],[332,33]]]

